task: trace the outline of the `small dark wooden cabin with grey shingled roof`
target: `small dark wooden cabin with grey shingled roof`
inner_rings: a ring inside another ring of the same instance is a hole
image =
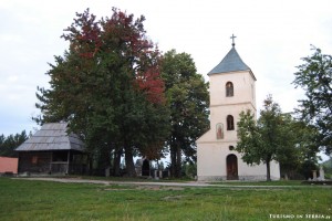
[[[66,123],[44,124],[40,130],[20,145],[18,172],[85,173],[84,144],[74,134],[68,134]]]

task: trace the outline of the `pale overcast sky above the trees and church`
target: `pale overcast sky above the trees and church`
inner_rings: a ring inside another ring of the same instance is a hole
[[[49,63],[69,48],[63,30],[75,12],[90,8],[100,19],[112,7],[144,14],[159,50],[190,54],[206,81],[235,34],[257,77],[258,109],[271,94],[282,112],[292,112],[304,95],[291,84],[301,57],[312,54],[311,44],[332,54],[331,0],[0,0],[0,134],[38,128],[31,119],[39,114],[37,87],[49,87]]]

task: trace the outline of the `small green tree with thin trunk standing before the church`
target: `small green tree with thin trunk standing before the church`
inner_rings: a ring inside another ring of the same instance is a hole
[[[267,180],[270,181],[270,162],[288,159],[288,152],[294,147],[289,120],[281,113],[277,103],[269,95],[263,102],[263,109],[256,122],[255,114],[249,109],[240,113],[236,150],[242,152],[242,159],[249,165],[267,166]]]

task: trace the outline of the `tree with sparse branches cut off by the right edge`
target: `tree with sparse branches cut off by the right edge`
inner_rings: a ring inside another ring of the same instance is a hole
[[[294,73],[295,87],[305,91],[297,112],[301,118],[318,128],[317,140],[326,155],[332,154],[332,56],[312,48],[313,54],[302,57],[303,64]]]

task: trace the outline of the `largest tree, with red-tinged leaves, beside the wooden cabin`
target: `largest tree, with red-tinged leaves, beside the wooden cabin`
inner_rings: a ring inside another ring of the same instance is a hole
[[[134,155],[160,157],[168,127],[160,55],[144,20],[115,8],[100,21],[89,9],[76,13],[62,35],[70,49],[46,73],[51,87],[37,94],[38,123],[69,122],[104,168],[114,154],[115,173],[124,152],[128,176],[136,175]]]

